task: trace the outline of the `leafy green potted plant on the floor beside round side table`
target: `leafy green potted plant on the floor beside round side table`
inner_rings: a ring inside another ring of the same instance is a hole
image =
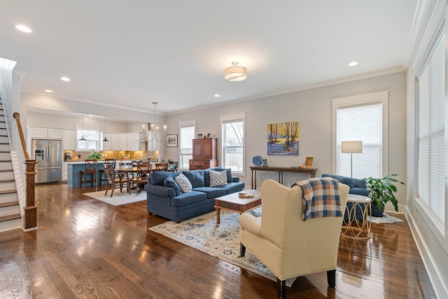
[[[372,200],[372,216],[382,217],[384,213],[384,204],[392,202],[395,211],[398,211],[398,200],[395,197],[397,187],[394,183],[401,183],[402,181],[395,179],[397,174],[389,174],[382,179],[374,179],[372,176],[364,178],[369,190],[369,197]]]

